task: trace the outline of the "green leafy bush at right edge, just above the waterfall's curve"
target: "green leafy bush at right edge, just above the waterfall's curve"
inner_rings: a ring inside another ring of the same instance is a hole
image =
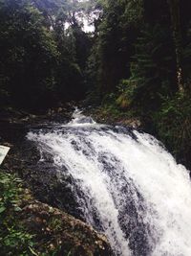
[[[177,94],[166,98],[154,114],[159,138],[181,162],[190,164],[191,100],[189,95]]]

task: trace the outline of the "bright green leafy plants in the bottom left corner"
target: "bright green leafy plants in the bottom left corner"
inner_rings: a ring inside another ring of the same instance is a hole
[[[0,172],[0,251],[1,255],[32,255],[33,236],[19,224],[23,197],[21,180]]]

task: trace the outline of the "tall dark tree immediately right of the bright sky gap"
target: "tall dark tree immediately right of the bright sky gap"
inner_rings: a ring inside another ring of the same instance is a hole
[[[142,19],[142,1],[101,1],[96,35],[88,61],[90,84],[98,94],[114,92],[129,75],[132,47]],[[132,29],[133,27],[133,29]]]

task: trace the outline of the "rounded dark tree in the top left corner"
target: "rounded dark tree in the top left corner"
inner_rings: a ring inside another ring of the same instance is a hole
[[[28,1],[0,4],[1,87],[11,103],[38,108],[49,105],[59,53],[41,13]]]

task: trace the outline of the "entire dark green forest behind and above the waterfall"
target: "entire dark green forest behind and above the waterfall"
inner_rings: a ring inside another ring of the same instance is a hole
[[[83,100],[138,117],[190,164],[190,9],[189,0],[1,0],[1,108]]]

